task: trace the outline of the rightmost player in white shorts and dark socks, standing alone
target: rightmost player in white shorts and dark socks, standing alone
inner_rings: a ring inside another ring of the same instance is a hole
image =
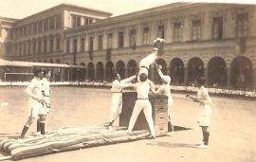
[[[210,133],[208,128],[210,126],[210,114],[211,108],[210,105],[212,101],[210,99],[208,90],[204,87],[205,79],[204,77],[197,77],[194,81],[194,85],[199,89],[197,91],[196,97],[193,97],[189,94],[186,95],[186,98],[191,98],[194,102],[198,102],[198,118],[197,122],[199,126],[202,128],[203,132],[203,142],[197,148],[199,149],[208,149],[209,148],[209,137]]]

